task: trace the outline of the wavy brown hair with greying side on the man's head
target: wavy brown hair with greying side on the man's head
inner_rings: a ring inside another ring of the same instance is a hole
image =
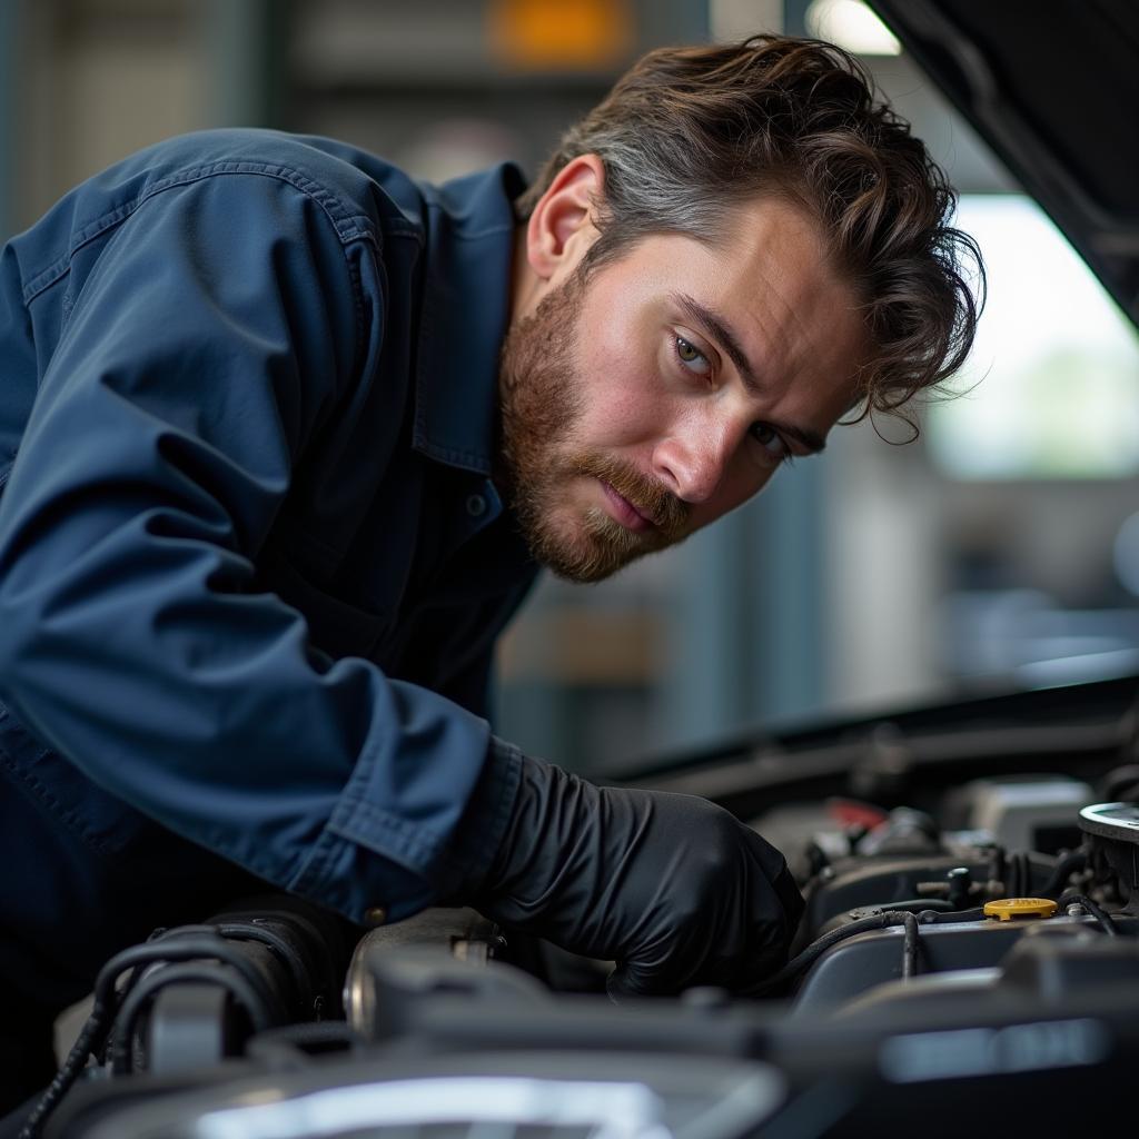
[[[859,418],[896,411],[968,355],[981,254],[949,224],[957,199],[942,170],[841,48],[756,35],[650,51],[566,132],[519,198],[523,216],[582,154],[605,166],[585,273],[649,233],[714,241],[757,195],[818,220],[875,346]]]

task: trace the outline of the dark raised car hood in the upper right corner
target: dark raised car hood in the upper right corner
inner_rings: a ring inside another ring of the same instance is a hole
[[[870,7],[1139,327],[1139,5]]]

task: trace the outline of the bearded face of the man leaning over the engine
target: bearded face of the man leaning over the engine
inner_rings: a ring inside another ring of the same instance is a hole
[[[727,514],[821,449],[865,352],[814,223],[779,199],[715,246],[658,235],[570,273],[502,350],[505,473],[535,558],[599,581]]]

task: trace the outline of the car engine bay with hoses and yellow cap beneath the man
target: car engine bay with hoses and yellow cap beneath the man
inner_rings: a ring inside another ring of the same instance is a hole
[[[616,1005],[613,962],[469,909],[361,936],[295,899],[247,899],[108,962],[22,1134],[1081,1125],[1139,1059],[1139,765],[1131,703],[1097,703],[1107,691],[1055,697],[1084,703],[1051,754],[1029,754],[1024,708],[989,703],[954,710],[952,730],[928,712],[846,723],[652,777],[719,792],[804,894],[790,960],[745,992]],[[985,748],[916,761],[935,737],[975,745],[977,715]]]

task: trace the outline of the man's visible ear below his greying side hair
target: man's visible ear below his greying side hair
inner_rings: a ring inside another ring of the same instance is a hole
[[[604,187],[601,159],[582,154],[558,171],[539,198],[526,224],[526,260],[541,281],[567,277],[593,244]]]

